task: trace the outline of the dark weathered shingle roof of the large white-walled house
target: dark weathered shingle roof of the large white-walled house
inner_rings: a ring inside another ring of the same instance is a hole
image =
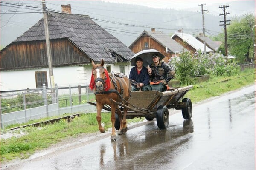
[[[116,56],[119,61],[129,61],[134,55],[88,15],[48,12],[47,18],[50,40],[67,38],[94,62],[116,62]],[[43,18],[14,42],[37,40],[45,40]]]

